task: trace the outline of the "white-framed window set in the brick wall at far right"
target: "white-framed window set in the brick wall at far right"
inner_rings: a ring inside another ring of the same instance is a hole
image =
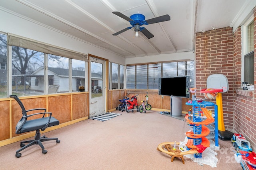
[[[249,84],[254,84],[254,21],[251,17],[242,29],[243,32],[243,61],[244,80]]]

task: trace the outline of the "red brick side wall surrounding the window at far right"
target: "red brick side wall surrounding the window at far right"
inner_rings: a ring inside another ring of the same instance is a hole
[[[241,28],[234,32],[234,82],[241,85]],[[237,64],[237,65],[236,65]],[[256,89],[256,8],[254,8],[254,89]],[[234,132],[243,134],[256,149],[256,91],[254,97],[234,95]]]

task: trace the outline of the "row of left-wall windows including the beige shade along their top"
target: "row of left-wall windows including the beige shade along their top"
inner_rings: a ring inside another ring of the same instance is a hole
[[[9,61],[7,43],[12,47],[9,51],[12,54],[10,63],[12,68],[9,69],[12,79],[9,83],[7,82],[7,61]],[[81,53],[0,34],[0,98],[11,94],[44,95],[47,89],[49,93],[48,85],[54,84],[58,85],[58,93],[78,91],[79,86],[85,86],[86,62],[88,62],[87,55]],[[45,77],[46,74],[48,79]],[[45,78],[48,83],[44,81]]]

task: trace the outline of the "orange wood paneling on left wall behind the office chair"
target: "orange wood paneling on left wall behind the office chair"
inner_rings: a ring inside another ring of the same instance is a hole
[[[88,95],[88,92],[76,92],[42,96],[26,96],[19,98],[26,110],[46,108],[47,112],[52,112],[52,116],[60,121],[60,125],[46,128],[46,130],[42,131],[42,133],[44,133],[88,119]],[[15,127],[22,117],[22,111],[14,99],[1,99],[0,108],[0,146],[17,142],[35,135],[35,132],[15,134]],[[30,114],[33,113],[35,112],[31,111]]]

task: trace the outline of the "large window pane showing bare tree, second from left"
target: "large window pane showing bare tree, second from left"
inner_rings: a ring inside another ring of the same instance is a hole
[[[41,79],[38,86],[36,79]],[[12,94],[44,94],[44,53],[12,46],[12,82]]]

